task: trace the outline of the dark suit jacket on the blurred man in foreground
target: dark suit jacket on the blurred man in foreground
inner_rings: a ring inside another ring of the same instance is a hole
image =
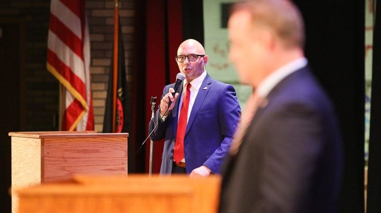
[[[333,213],[341,139],[308,68],[287,76],[255,114],[223,171],[220,213]]]

